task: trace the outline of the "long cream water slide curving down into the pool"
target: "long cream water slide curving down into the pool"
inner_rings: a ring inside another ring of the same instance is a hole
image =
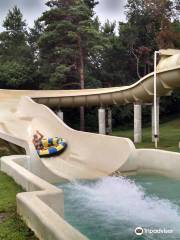
[[[180,50],[161,50],[157,71],[157,95],[180,88]],[[80,132],[68,127],[48,107],[109,106],[148,103],[153,100],[150,73],[125,87],[85,90],[0,90],[0,138],[25,148],[29,170],[56,182],[59,179],[93,179],[110,175],[135,154],[130,139]],[[67,150],[58,157],[39,158],[32,136],[62,136]]]

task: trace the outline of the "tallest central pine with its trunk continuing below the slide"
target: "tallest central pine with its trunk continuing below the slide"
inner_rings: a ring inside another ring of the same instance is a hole
[[[50,0],[43,13],[44,34],[39,40],[42,70],[54,88],[85,87],[85,66],[98,47],[99,34],[92,20],[94,1]],[[84,130],[84,108],[80,110]]]

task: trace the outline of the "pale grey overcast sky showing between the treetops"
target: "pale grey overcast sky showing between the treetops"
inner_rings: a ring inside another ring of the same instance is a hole
[[[21,9],[27,24],[32,27],[34,20],[46,9],[45,2],[46,0],[0,0],[0,31],[2,31],[2,22],[8,9],[17,5]],[[95,11],[101,22],[106,19],[125,21],[124,5],[126,0],[99,0],[99,2]]]

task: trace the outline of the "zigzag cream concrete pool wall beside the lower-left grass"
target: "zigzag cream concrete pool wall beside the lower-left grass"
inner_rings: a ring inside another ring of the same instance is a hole
[[[0,159],[0,170],[12,177],[27,192],[17,194],[17,212],[40,240],[88,240],[67,223],[63,191],[22,166],[28,156]]]

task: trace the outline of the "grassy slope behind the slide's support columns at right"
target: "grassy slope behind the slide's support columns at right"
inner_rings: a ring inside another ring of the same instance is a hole
[[[151,138],[151,127],[143,128],[142,143],[135,144],[137,148],[154,148]],[[128,137],[133,140],[133,129],[115,129],[114,136]],[[169,122],[160,124],[160,141],[158,148],[168,151],[179,151],[180,142],[180,117]]]

